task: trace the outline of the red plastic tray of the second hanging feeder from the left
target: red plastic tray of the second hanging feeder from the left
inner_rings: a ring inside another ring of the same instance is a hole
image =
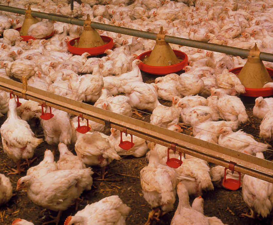
[[[80,37],[74,38],[67,43],[68,51],[75,54],[75,55],[81,55],[85,52],[88,52],[91,56],[96,56],[96,55],[103,54],[106,49],[113,48],[114,42],[113,42],[112,38],[110,38],[108,36],[102,36],[102,35],[100,35],[100,37],[103,39],[103,41],[106,44],[98,46],[98,47],[93,47],[93,48],[74,47],[73,45],[75,44],[75,40],[79,40]]]

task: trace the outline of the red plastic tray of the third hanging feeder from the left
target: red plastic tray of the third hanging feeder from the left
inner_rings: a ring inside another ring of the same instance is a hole
[[[149,66],[144,63],[139,63],[138,67],[140,70],[143,70],[144,72],[151,73],[151,74],[157,74],[157,75],[164,75],[169,73],[175,73],[180,70],[183,70],[184,66],[188,64],[188,56],[181,51],[173,50],[174,54],[177,57],[180,57],[183,59],[180,63],[171,65],[171,66]],[[137,59],[143,60],[145,56],[150,56],[152,51],[144,52],[137,56]]]

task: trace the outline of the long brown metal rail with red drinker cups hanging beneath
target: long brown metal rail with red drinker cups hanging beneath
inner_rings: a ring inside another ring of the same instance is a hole
[[[233,162],[235,171],[273,183],[273,162],[28,86],[25,77],[23,84],[0,77],[0,90],[82,116],[108,127],[125,130],[128,134],[227,168],[230,162]]]

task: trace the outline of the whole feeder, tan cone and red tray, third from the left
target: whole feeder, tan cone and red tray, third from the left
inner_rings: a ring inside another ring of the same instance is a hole
[[[142,53],[137,57],[137,59],[144,62],[139,63],[140,70],[163,75],[180,71],[188,64],[187,55],[184,52],[173,50],[164,38],[163,27],[160,27],[153,50]],[[177,57],[181,58],[181,61]]]

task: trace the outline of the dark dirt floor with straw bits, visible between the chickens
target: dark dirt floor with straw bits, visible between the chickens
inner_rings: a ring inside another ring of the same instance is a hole
[[[179,73],[178,73],[179,74]],[[147,76],[143,74],[143,80],[147,83],[151,83],[155,77]],[[254,106],[254,98],[243,97],[242,100],[246,106],[250,121],[243,124],[241,128],[253,135],[256,140],[259,140],[259,125],[261,120],[254,118],[252,115],[252,108]],[[164,104],[170,104],[163,102]],[[146,115],[146,121],[149,121],[150,115]],[[0,118],[0,124],[5,121],[5,118]],[[42,128],[32,127],[37,132],[37,135],[42,134]],[[190,131],[184,130],[185,134],[190,135]],[[38,157],[31,166],[37,165],[43,159],[43,153],[45,149],[51,149],[52,146],[46,142],[41,143],[35,151],[35,156]],[[74,154],[75,151],[72,151]],[[56,155],[56,161],[58,160]],[[269,152],[266,154],[268,160],[271,160],[272,154]],[[140,186],[140,170],[146,166],[148,162],[145,157],[134,158],[131,156],[123,157],[119,161],[113,161],[106,167],[105,180],[102,181],[96,174],[93,176],[93,187],[91,191],[85,191],[81,195],[83,201],[79,203],[78,210],[82,210],[86,204],[90,204],[100,199],[118,195],[124,203],[131,207],[129,216],[126,219],[126,224],[144,224],[147,220],[148,213],[151,211],[151,207],[143,198],[141,186]],[[0,173],[7,174],[11,168],[15,168],[16,165],[9,159],[2,149],[0,149]],[[27,170],[27,167],[25,167]],[[99,168],[93,167],[93,171],[100,172]],[[16,184],[20,177],[25,176],[26,172],[20,175],[8,175],[12,182],[13,196],[10,201],[0,207],[0,224],[12,224],[12,221],[20,217],[22,219],[32,221],[34,224],[42,224],[49,220],[52,220],[50,216],[56,216],[57,212],[47,210],[41,206],[37,206],[28,198],[26,192],[16,191]],[[217,216],[223,223],[227,224],[270,224],[272,215],[265,219],[250,219],[241,217],[241,213],[249,213],[248,206],[244,203],[242,198],[241,189],[237,191],[230,191],[224,188],[217,188],[213,191],[204,193],[204,214],[206,216]],[[193,201],[193,197],[190,198],[190,203]],[[175,203],[174,210],[161,217],[160,222],[154,222],[153,224],[170,224],[170,221],[174,215],[175,209],[178,204],[178,198]],[[64,220],[69,215],[76,213],[75,205],[70,206],[62,213],[59,224],[63,224]]]

